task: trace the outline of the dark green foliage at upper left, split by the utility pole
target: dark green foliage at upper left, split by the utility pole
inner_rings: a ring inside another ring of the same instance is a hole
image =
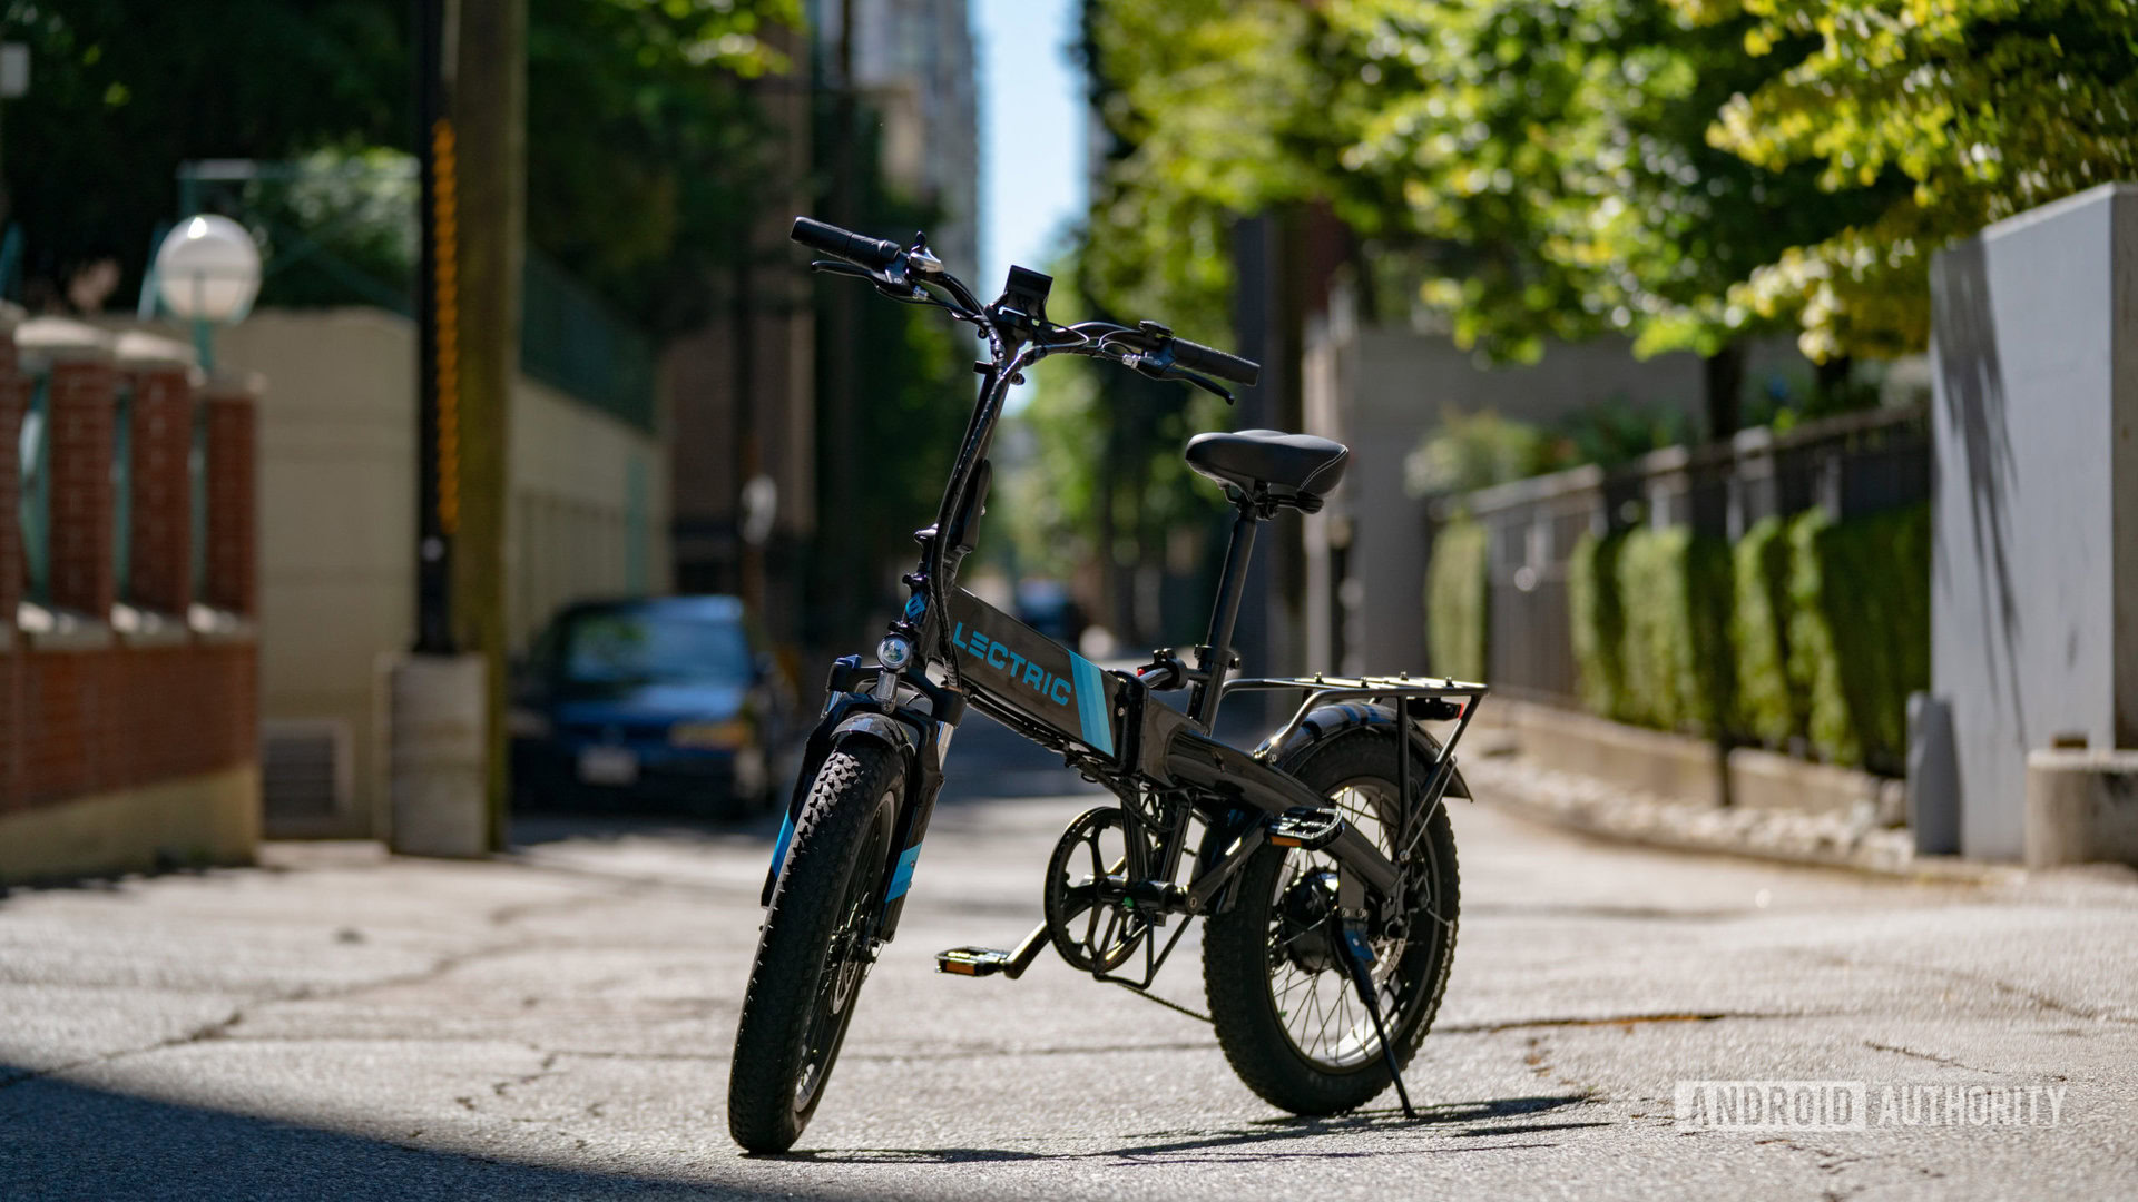
[[[6,105],[4,169],[45,293],[100,259],[137,287],[156,227],[180,216],[186,160],[408,148],[408,4],[0,0],[0,13],[32,60],[30,92]],[[530,240],[654,334],[701,319],[703,278],[733,255],[763,180],[744,81],[789,66],[772,34],[800,19],[800,0],[530,0]],[[404,242],[396,227],[376,233]]]

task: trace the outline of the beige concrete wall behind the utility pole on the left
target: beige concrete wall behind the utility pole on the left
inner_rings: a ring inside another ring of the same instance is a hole
[[[415,633],[415,325],[370,308],[261,310],[216,351],[276,381],[259,411],[261,719],[340,761],[334,804],[272,811],[272,830],[378,834],[378,661]],[[520,381],[515,642],[567,601],[667,588],[667,471],[656,436]]]

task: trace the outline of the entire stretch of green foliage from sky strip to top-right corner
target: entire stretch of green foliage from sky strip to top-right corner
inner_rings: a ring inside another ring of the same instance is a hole
[[[2134,6],[1099,0],[1093,284],[1214,314],[1227,214],[1321,199],[1490,357],[1920,349],[1931,252],[2138,165]]]

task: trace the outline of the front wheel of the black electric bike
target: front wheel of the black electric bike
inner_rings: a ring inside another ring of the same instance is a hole
[[[783,1153],[823,1099],[874,958],[902,757],[874,742],[834,751],[795,823],[727,1078],[727,1129],[753,1153]]]

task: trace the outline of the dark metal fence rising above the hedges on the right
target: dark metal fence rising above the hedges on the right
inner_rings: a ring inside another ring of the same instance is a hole
[[[1734,541],[1764,518],[1824,509],[1845,520],[1928,496],[1931,428],[1918,404],[1666,447],[1610,473],[1584,466],[1503,483],[1441,500],[1435,520],[1467,511],[1490,535],[1486,680],[1578,704],[1567,560],[1582,535],[1691,526]]]

